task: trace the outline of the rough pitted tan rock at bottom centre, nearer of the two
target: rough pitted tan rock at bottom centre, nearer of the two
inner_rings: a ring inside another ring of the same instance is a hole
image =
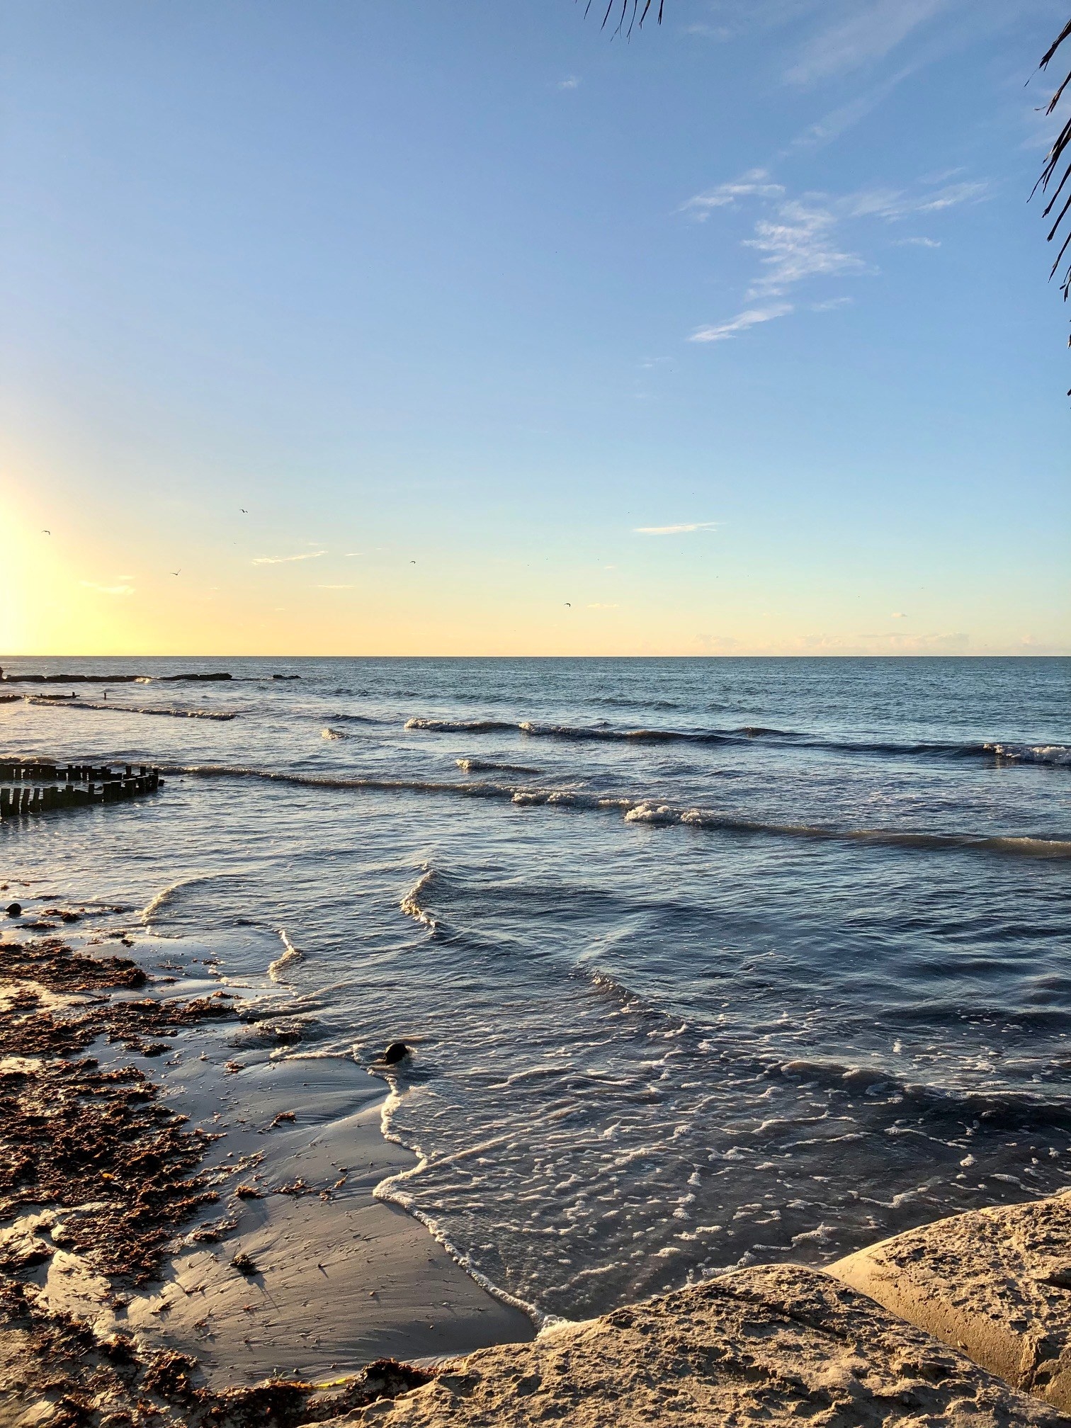
[[[381,1428],[1067,1424],[928,1334],[801,1265],[738,1269],[534,1344],[483,1349],[331,1425]],[[324,1425],[327,1428],[327,1424]]]

